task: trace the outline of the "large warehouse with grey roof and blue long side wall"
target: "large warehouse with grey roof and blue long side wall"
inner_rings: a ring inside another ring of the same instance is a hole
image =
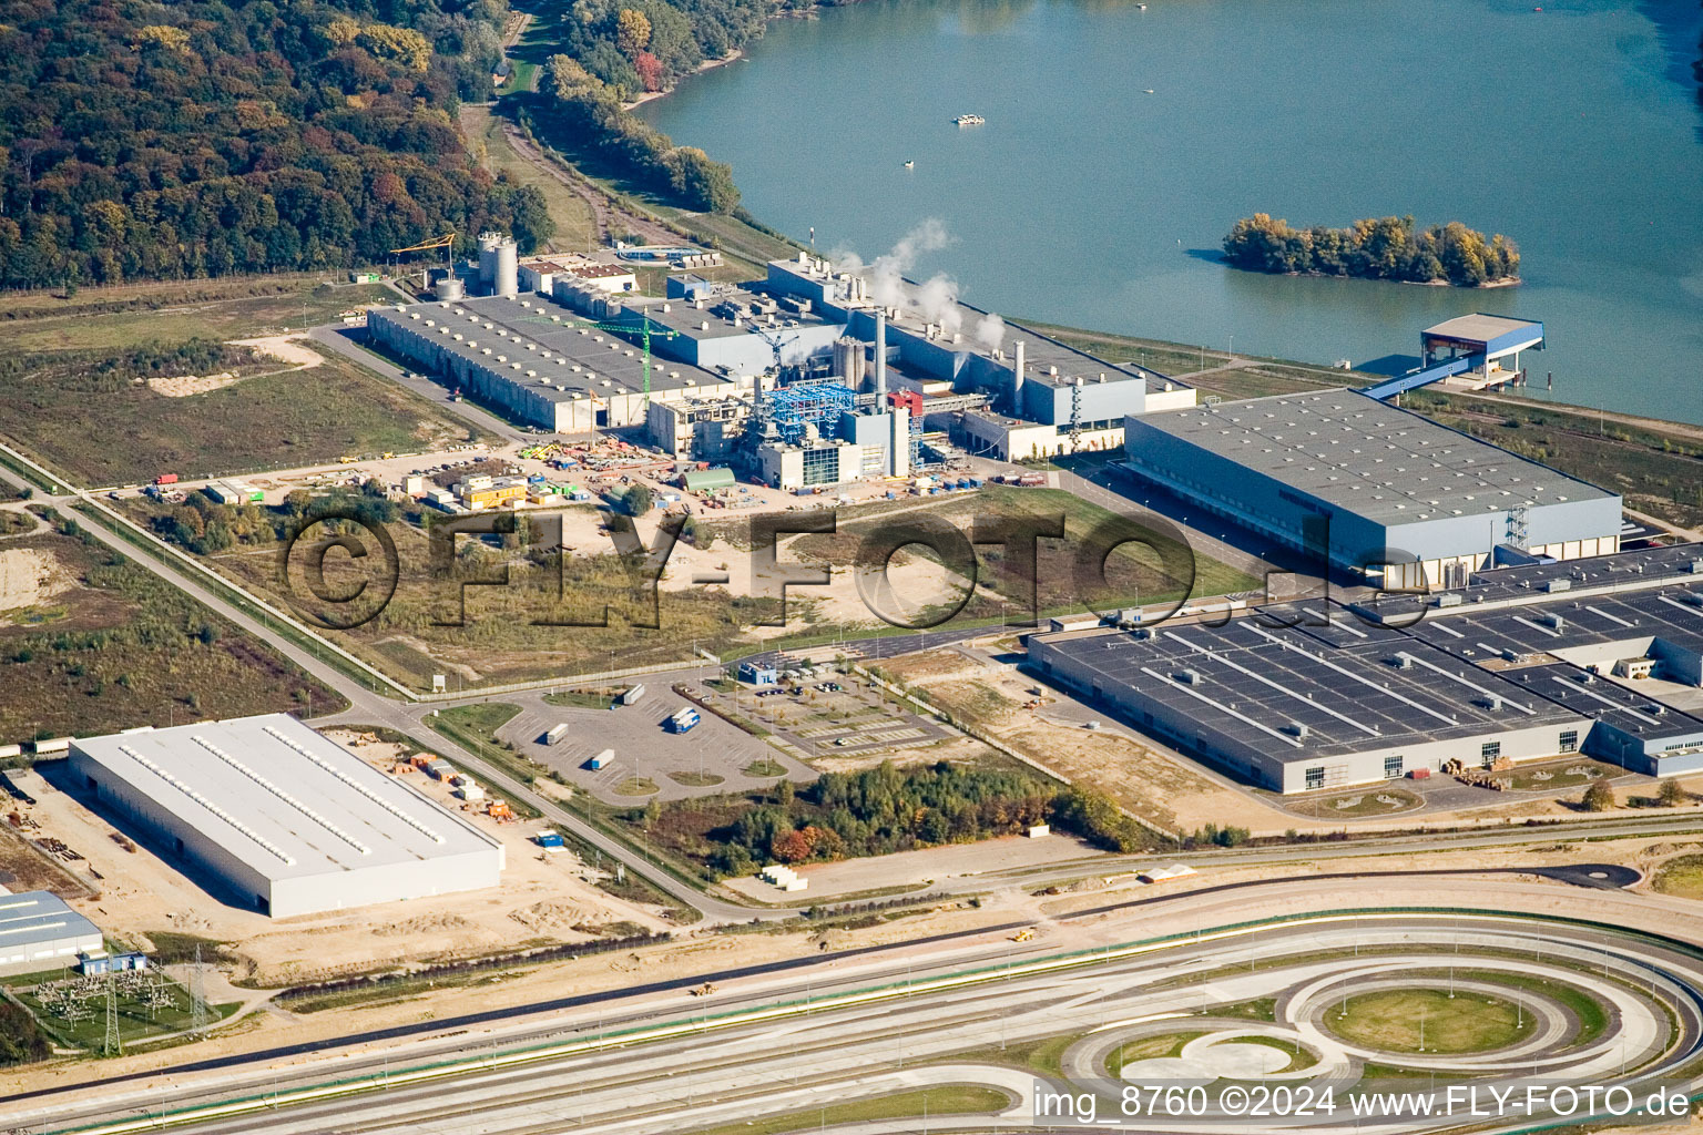
[[[1126,468],[1207,512],[1390,589],[1620,548],[1620,497],[1333,390],[1131,417]],[[1383,556],[1400,560],[1379,567]]]

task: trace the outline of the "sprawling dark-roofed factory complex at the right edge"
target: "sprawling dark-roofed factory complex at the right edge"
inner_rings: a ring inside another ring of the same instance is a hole
[[[1703,545],[1475,573],[1425,616],[1315,602],[1034,635],[1029,665],[1282,793],[1572,752],[1703,769]]]

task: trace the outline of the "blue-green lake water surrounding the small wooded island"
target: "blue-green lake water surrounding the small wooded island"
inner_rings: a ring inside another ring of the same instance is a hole
[[[1495,311],[1546,323],[1531,393],[1553,371],[1555,398],[1703,422],[1703,10],[1533,7],[869,0],[775,24],[642,114],[824,252],[869,259],[940,218],[954,240],[913,274],[950,272],[978,306],[1320,362],[1413,354],[1422,327]],[[1526,282],[1211,262],[1255,211],[1459,220],[1512,237]]]

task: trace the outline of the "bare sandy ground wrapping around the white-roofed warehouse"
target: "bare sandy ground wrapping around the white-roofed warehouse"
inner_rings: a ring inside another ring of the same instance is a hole
[[[359,752],[390,769],[397,747],[363,745]],[[446,808],[463,807],[448,784],[422,773],[409,776]],[[594,887],[593,868],[572,853],[536,847],[536,824],[497,824],[475,813],[468,818],[504,844],[501,888],[269,919],[225,905],[146,846],[128,851],[118,842],[118,829],[39,773],[14,773],[12,779],[37,801],[34,808],[14,803],[41,825],[31,834],[61,839],[87,856],[72,866],[75,876],[99,890],[99,898],[75,904],[83,914],[107,934],[136,944],[146,944],[155,931],[230,943],[223,968],[240,982],[305,984],[410,961],[591,941],[615,922],[671,927],[654,907]]]

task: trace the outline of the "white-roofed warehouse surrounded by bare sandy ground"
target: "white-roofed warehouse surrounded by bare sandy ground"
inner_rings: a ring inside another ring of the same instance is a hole
[[[497,887],[502,844],[274,713],[72,742],[112,822],[272,917]]]

